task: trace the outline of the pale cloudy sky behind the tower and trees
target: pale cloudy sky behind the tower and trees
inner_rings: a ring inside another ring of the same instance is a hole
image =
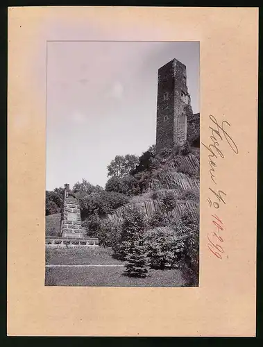
[[[85,178],[104,187],[115,155],[155,144],[158,68],[187,67],[199,112],[199,42],[49,42],[46,189]]]

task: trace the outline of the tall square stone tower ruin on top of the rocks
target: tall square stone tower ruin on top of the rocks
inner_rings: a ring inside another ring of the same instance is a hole
[[[192,115],[186,66],[176,59],[158,69],[156,150],[171,149],[187,139],[187,115]]]

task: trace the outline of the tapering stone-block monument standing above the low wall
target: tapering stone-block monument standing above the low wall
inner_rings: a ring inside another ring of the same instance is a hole
[[[83,237],[78,198],[70,191],[67,184],[65,185],[64,204],[61,214],[61,236]]]

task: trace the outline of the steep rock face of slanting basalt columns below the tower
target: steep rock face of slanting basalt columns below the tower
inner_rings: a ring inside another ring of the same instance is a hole
[[[146,185],[146,192],[130,198],[130,203],[115,210],[109,219],[121,222],[124,211],[133,206],[142,209],[146,217],[151,218],[155,212],[162,213],[165,196],[173,196],[175,207],[166,213],[172,217],[191,211],[199,216],[199,149],[192,148],[188,155],[171,154],[163,160],[162,167],[151,172],[151,179]]]

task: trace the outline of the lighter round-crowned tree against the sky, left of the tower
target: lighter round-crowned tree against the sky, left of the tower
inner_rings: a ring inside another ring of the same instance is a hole
[[[134,170],[139,160],[137,155],[116,155],[114,160],[108,164],[108,177],[121,178],[128,176]]]

